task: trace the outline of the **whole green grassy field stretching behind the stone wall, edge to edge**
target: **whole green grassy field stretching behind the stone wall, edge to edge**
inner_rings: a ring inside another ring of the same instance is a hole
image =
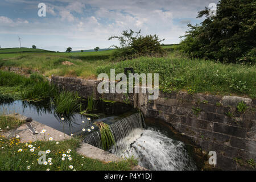
[[[137,73],[159,73],[160,89],[164,92],[186,90],[190,94],[236,94],[256,98],[255,65],[189,59],[177,50],[178,45],[163,47],[168,50],[166,57],[139,57],[120,62],[110,60],[115,50],[30,53],[20,54],[13,59],[3,59],[2,55],[5,54],[0,54],[0,65],[23,68],[28,73],[36,71],[47,77],[56,75],[82,78],[97,78],[98,73],[109,73],[110,68],[120,73],[125,67],[133,67]]]

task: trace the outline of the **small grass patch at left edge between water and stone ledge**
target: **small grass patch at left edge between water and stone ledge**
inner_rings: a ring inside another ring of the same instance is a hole
[[[0,131],[11,130],[22,125],[24,121],[11,117],[9,115],[0,115]]]

